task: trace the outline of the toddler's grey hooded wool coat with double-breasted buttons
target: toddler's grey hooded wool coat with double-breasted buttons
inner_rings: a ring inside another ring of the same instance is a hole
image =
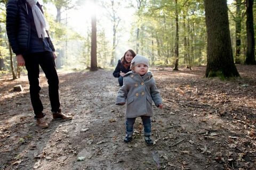
[[[124,75],[124,85],[118,91],[116,105],[126,103],[126,118],[153,116],[152,100],[156,106],[162,103],[151,72],[143,77],[133,71]]]

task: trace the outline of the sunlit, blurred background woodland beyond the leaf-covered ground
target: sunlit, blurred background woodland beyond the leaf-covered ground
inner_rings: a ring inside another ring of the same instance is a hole
[[[0,72],[19,77],[15,54],[5,30],[5,4],[0,0]],[[116,65],[127,49],[145,55],[153,66],[207,64],[203,0],[42,0],[58,69],[91,66],[91,15],[97,15],[97,64]],[[228,2],[234,62],[255,64],[255,2]],[[214,17],[214,16],[212,16]],[[25,71],[25,69],[21,70]]]

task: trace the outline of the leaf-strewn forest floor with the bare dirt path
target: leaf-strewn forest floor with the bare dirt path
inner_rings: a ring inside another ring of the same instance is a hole
[[[35,125],[26,75],[2,77],[0,169],[256,169],[256,67],[237,65],[241,78],[228,81],[204,78],[205,69],[151,69],[164,103],[153,106],[154,146],[140,118],[123,142],[125,106],[115,105],[112,71],[59,73],[62,111],[74,116],[66,122],[52,120],[41,74],[47,129]]]

